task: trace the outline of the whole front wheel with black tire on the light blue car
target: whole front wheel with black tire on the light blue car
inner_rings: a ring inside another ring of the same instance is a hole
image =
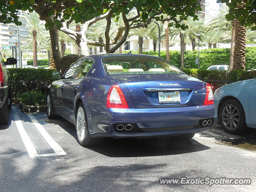
[[[219,112],[219,120],[222,128],[229,134],[242,134],[248,130],[245,122],[244,109],[240,102],[226,100]]]

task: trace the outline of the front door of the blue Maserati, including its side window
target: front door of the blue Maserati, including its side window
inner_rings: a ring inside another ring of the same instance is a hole
[[[62,79],[54,82],[54,89],[56,91],[54,98],[54,106],[55,108],[62,114],[66,115],[66,108],[64,104],[64,88],[72,82],[72,78],[74,73],[82,60],[78,60],[66,71],[66,73],[62,76]]]

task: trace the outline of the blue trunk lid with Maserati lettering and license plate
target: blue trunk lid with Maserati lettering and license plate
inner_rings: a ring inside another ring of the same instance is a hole
[[[204,82],[185,74],[139,74],[111,76],[125,84],[135,108],[173,108],[202,105]],[[160,103],[167,97],[176,103]]]

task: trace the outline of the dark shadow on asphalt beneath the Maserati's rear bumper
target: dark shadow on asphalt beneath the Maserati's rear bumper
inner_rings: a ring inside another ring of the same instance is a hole
[[[146,157],[185,154],[210,149],[194,139],[177,140],[174,138],[105,138],[99,146],[87,147],[109,157]]]

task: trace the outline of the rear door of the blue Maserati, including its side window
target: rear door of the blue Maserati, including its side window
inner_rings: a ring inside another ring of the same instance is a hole
[[[65,99],[65,107],[67,116],[75,120],[75,98],[78,90],[81,88],[86,88],[86,84],[88,82],[88,78],[86,75],[94,60],[90,58],[85,58],[80,66],[77,68],[76,72],[74,73],[73,79],[66,83],[64,88],[64,99]]]

